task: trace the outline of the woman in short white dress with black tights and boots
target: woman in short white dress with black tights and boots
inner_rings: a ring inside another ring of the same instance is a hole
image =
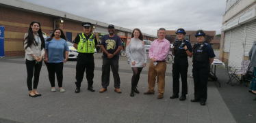
[[[126,53],[133,71],[130,96],[134,96],[133,92],[140,93],[137,90],[137,85],[140,80],[140,73],[146,66],[146,49],[140,29],[133,29],[131,39],[127,40]]]

